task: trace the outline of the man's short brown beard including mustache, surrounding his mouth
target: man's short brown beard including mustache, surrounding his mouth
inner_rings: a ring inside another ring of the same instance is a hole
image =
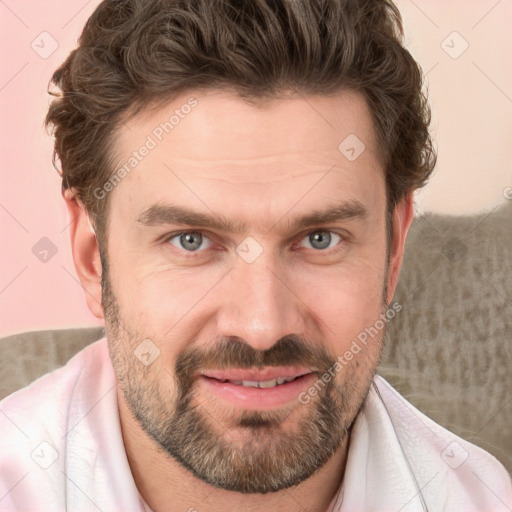
[[[139,335],[121,316],[103,258],[102,264],[105,331],[125,401],[159,451],[196,478],[240,493],[276,492],[312,476],[348,441],[380,360],[383,333],[327,383],[321,377],[333,367],[336,356],[294,335],[264,351],[236,337],[207,348],[187,347],[176,357],[171,396],[165,375],[170,373],[157,365],[144,366],[134,356],[147,336]],[[201,369],[290,365],[317,369],[322,386],[308,404],[235,410],[213,397],[201,402],[197,393],[194,374]]]

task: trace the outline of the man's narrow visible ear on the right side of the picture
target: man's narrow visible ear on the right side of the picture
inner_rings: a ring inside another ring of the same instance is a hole
[[[393,210],[393,238],[391,240],[389,267],[388,267],[388,295],[387,304],[391,303],[395,295],[396,285],[405,248],[405,239],[414,218],[414,191],[410,192]]]

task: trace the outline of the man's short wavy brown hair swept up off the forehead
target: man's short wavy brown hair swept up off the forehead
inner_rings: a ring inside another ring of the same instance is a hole
[[[104,0],[55,71],[47,126],[54,161],[106,247],[116,129],[155,102],[225,88],[246,101],[361,92],[375,123],[388,206],[423,186],[436,160],[418,64],[390,0]],[[341,142],[341,141],[340,141]]]

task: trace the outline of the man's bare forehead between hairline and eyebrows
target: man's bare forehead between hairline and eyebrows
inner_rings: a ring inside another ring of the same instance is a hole
[[[257,104],[225,91],[191,91],[129,119],[114,153],[116,169],[126,172],[111,208],[133,216],[169,199],[203,210],[262,200],[271,207],[307,189],[315,189],[308,199],[328,199],[342,189],[371,195],[384,183],[371,113],[352,91]]]

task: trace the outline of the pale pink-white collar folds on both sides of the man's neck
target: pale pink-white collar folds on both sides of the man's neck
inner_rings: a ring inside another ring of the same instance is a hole
[[[78,403],[89,409],[74,411],[74,423],[67,434],[72,447],[66,461],[67,474],[83,485],[81,493],[73,489],[68,494],[68,506],[71,510],[83,509],[85,499],[80,496],[85,496],[93,502],[97,499],[111,510],[140,512],[143,507],[150,510],[130,470],[123,444],[115,374],[106,339],[101,341],[96,344],[95,353],[90,354],[94,364],[85,365],[81,375],[82,382],[101,381],[93,387],[97,396],[90,396],[89,386],[79,387]],[[352,427],[344,480],[328,512],[427,510],[379,386],[386,383],[377,376]],[[92,408],[91,404],[94,404]],[[83,478],[84,475],[90,477]]]

